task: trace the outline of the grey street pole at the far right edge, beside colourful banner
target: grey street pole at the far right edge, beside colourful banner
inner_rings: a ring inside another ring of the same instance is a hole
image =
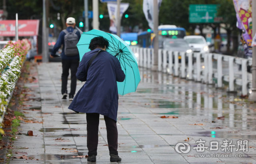
[[[256,33],[256,0],[252,0],[252,36]],[[248,100],[256,101],[256,46],[252,47],[252,93]]]

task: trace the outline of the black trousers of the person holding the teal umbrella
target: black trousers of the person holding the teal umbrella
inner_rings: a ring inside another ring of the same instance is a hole
[[[99,118],[100,118],[100,114],[98,113],[86,113],[88,156],[91,156],[93,154],[97,155],[98,138],[99,138],[98,136]],[[109,154],[118,155],[118,151],[117,151],[118,132],[116,127],[116,121],[107,116],[104,116],[104,120],[107,128]]]

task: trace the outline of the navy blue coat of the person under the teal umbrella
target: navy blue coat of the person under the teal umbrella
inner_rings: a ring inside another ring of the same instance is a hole
[[[99,50],[96,48],[84,54],[76,73],[78,80],[86,80],[88,62]],[[68,109],[82,113],[99,113],[116,120],[117,81],[123,82],[124,78],[125,74],[119,60],[108,52],[100,52],[88,70],[87,81],[77,92]]]

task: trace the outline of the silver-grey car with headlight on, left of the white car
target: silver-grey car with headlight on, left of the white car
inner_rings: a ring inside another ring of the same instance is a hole
[[[188,45],[188,42],[184,39],[165,39],[162,42],[162,46],[160,48],[172,51],[179,51],[179,52],[192,52],[191,47]],[[172,58],[172,62],[174,63],[174,56]],[[181,62],[181,56],[179,56],[179,62]],[[188,57],[186,56],[186,63],[188,62]]]

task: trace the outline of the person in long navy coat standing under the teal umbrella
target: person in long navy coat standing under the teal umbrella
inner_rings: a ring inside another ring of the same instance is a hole
[[[82,57],[76,77],[85,82],[68,107],[75,112],[86,113],[88,161],[96,162],[100,114],[104,115],[107,129],[110,162],[120,162],[118,156],[117,82],[123,82],[125,74],[119,60],[106,52],[108,40],[102,36],[90,41],[89,49]]]

